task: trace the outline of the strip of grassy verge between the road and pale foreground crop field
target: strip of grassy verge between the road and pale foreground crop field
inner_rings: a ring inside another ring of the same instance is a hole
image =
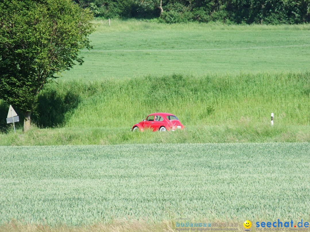
[[[175,132],[133,133],[129,127],[22,128],[0,133],[0,146],[86,145],[86,144],[183,144],[183,143],[246,143],[246,142],[310,142],[310,126],[242,125],[188,126]]]

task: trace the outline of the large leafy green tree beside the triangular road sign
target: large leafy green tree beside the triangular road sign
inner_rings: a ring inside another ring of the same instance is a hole
[[[0,98],[24,114],[24,132],[37,96],[55,74],[82,65],[94,30],[88,9],[71,0],[0,1]]]

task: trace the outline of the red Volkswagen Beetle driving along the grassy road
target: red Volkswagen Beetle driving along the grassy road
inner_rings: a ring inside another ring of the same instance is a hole
[[[131,131],[143,131],[144,128],[151,128],[153,131],[175,131],[176,129],[183,129],[184,126],[173,114],[154,113],[148,115],[142,122],[135,124]]]

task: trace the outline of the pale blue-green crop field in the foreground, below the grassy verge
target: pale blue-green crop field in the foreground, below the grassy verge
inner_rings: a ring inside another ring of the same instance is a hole
[[[307,221],[309,152],[309,143],[0,147],[0,224]]]

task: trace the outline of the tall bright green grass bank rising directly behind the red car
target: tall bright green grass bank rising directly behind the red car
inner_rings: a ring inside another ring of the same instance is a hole
[[[67,127],[130,128],[154,112],[175,114],[185,126],[269,125],[271,113],[276,125],[310,125],[309,73],[147,76],[58,86],[83,99]]]

